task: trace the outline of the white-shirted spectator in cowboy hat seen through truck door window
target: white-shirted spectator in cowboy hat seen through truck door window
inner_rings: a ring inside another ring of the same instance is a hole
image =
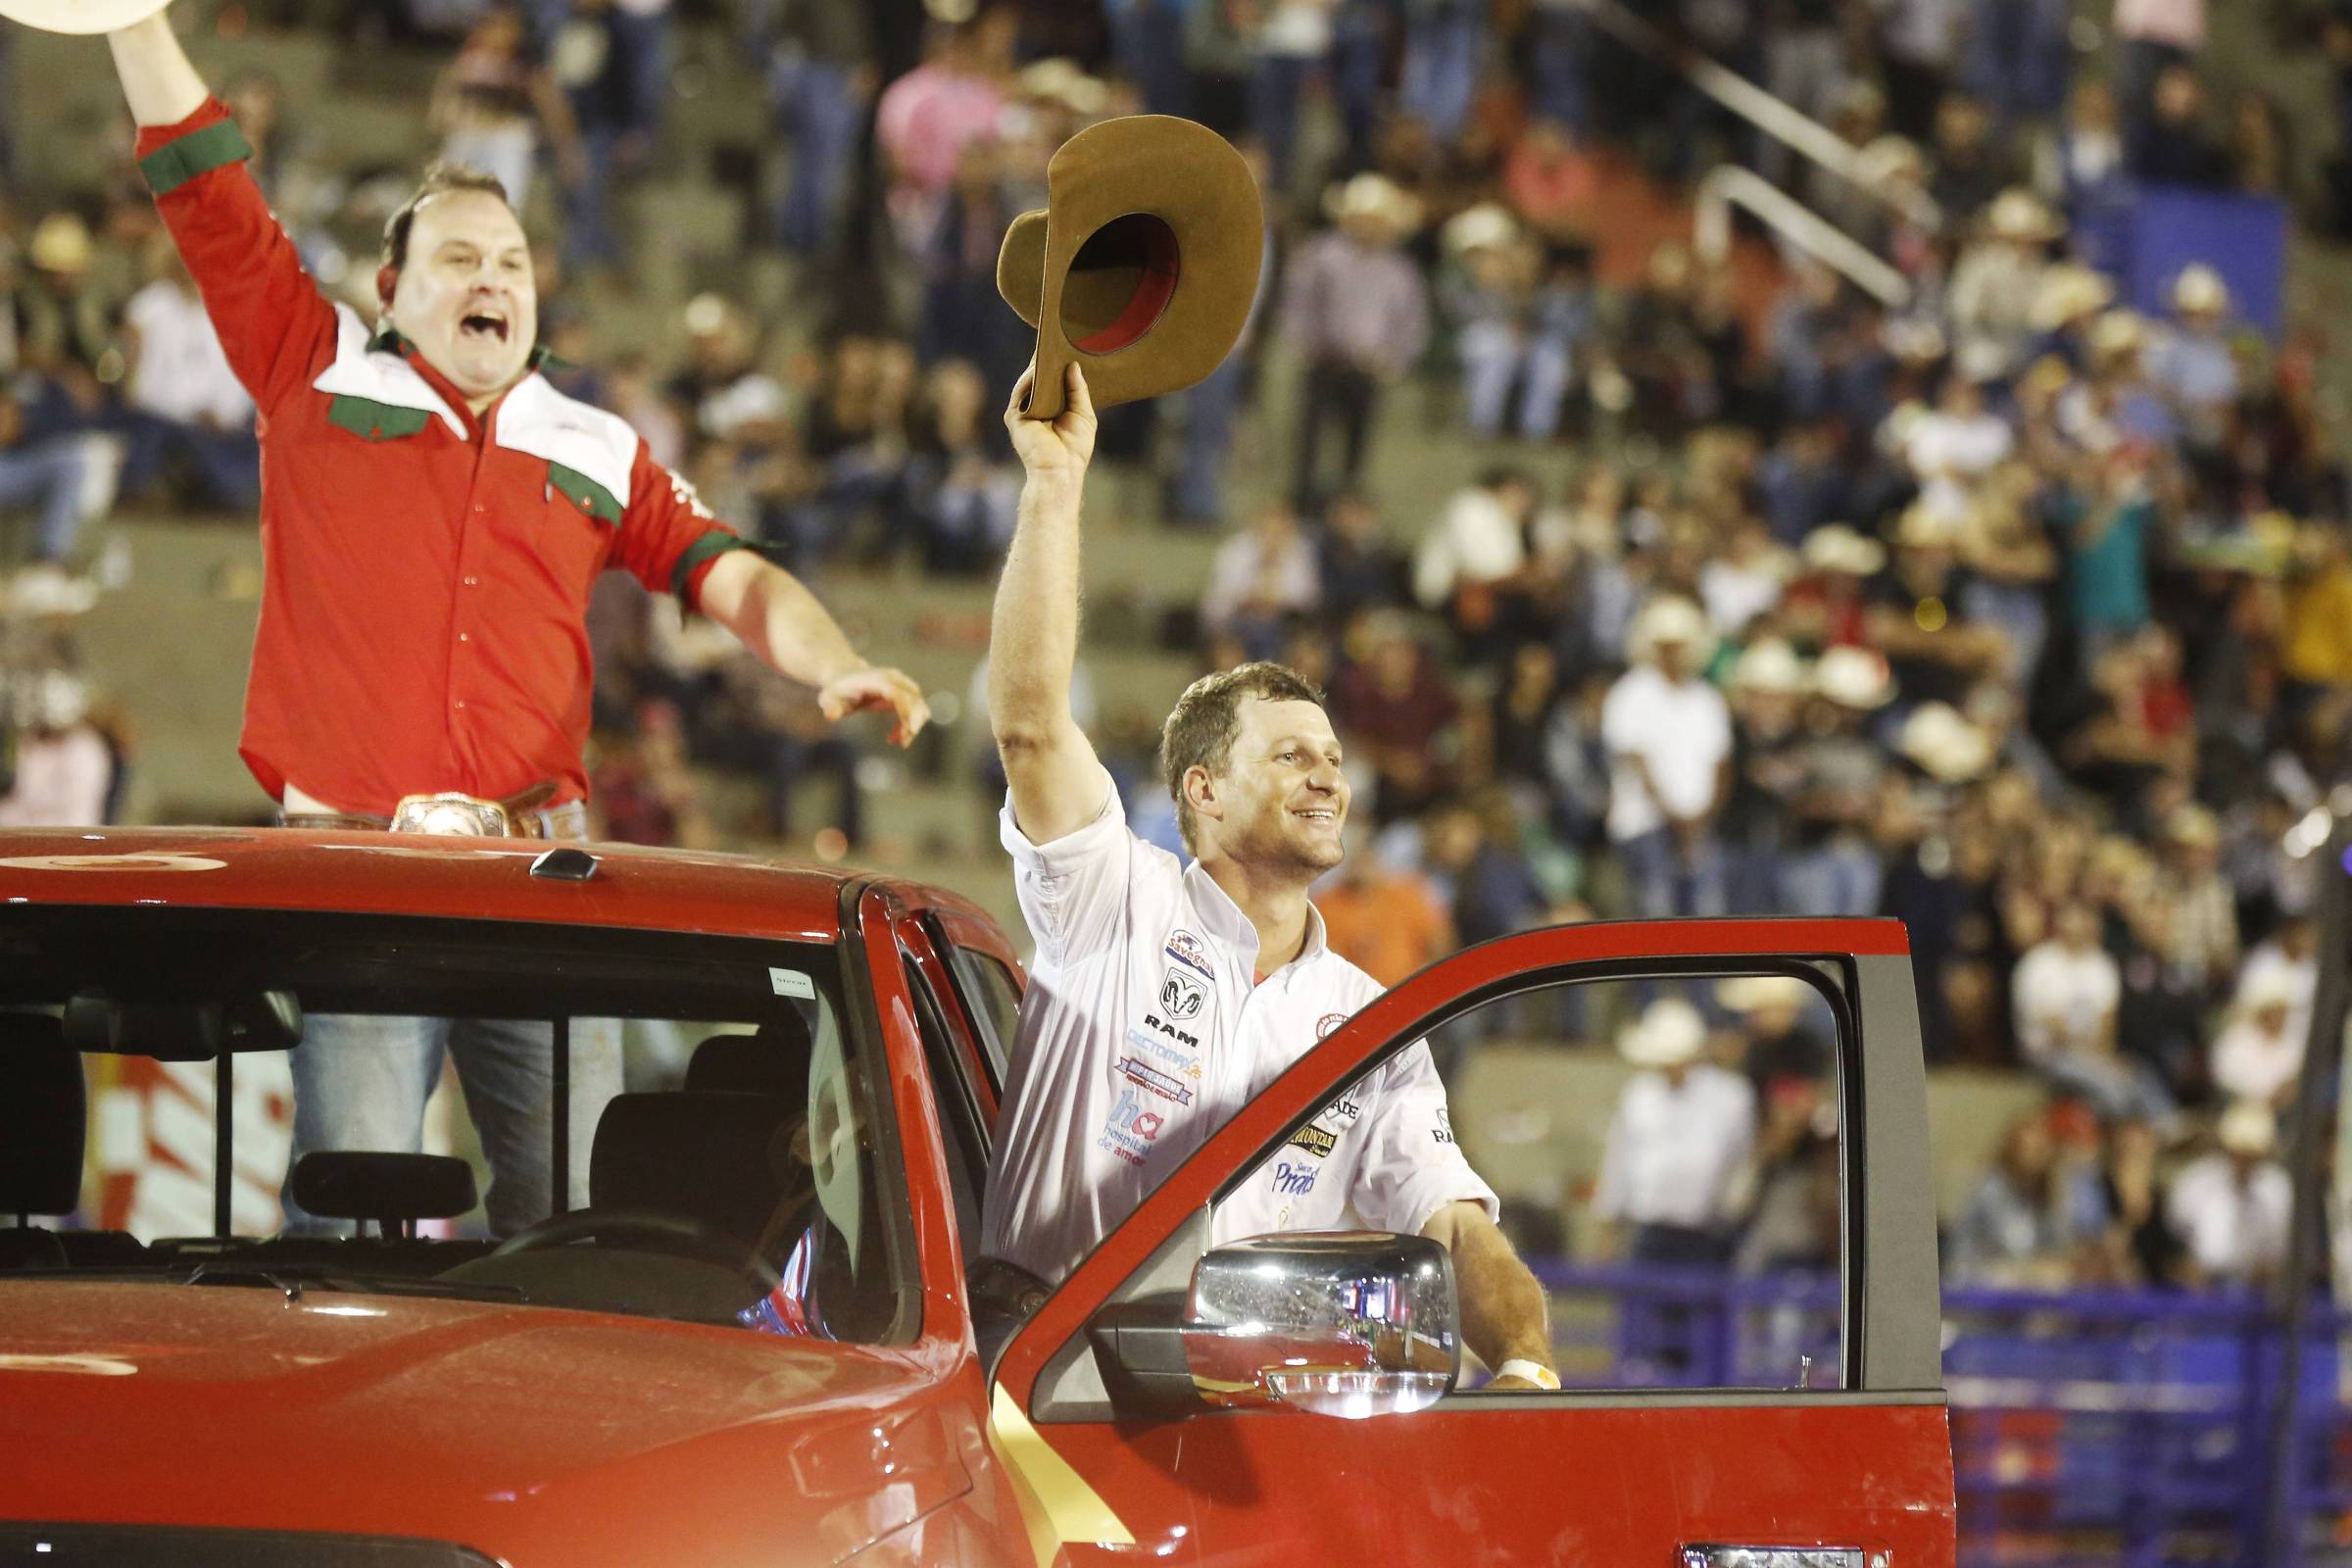
[[[1635,1262],[1712,1265],[1731,1251],[1757,1138],[1755,1086],[1700,1060],[1698,1009],[1661,997],[1618,1034],[1639,1067],[1618,1095],[1592,1213],[1632,1227]]]

